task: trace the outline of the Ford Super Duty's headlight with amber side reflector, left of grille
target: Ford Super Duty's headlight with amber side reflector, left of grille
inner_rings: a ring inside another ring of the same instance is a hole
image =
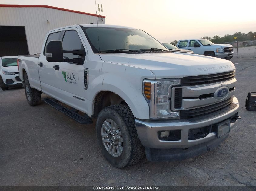
[[[180,85],[180,79],[144,80],[143,94],[150,107],[150,118],[178,117],[179,112],[171,111],[171,87]]]

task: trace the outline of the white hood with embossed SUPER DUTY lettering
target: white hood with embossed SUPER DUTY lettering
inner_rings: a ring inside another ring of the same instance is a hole
[[[174,53],[100,54],[102,61],[150,70],[155,78],[183,78],[234,70],[232,62],[210,56]]]

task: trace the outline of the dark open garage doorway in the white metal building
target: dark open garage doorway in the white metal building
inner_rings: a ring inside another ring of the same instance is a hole
[[[0,56],[28,54],[25,27],[0,26]]]

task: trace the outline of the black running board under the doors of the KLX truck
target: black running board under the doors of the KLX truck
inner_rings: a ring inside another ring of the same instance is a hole
[[[56,110],[66,114],[67,116],[71,117],[75,121],[81,124],[91,124],[92,120],[88,116],[81,116],[78,113],[64,107],[63,105],[57,103],[54,99],[51,98],[44,98],[43,101],[50,106],[54,107]]]

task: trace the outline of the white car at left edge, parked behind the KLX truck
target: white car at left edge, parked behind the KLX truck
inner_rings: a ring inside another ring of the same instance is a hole
[[[21,87],[19,70],[17,65],[17,56],[0,57],[0,87],[2,90],[8,90],[9,87]]]

